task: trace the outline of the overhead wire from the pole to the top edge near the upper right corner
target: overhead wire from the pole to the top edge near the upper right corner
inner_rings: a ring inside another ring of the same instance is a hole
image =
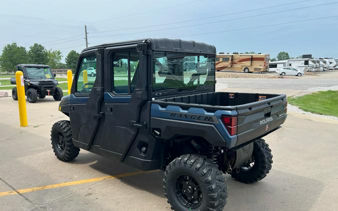
[[[123,31],[123,30],[132,30],[132,29],[139,29],[139,28],[148,28],[148,27],[155,27],[155,26],[171,25],[171,24],[184,23],[184,22],[190,22],[190,21],[195,21],[195,20],[203,20],[203,19],[209,19],[209,18],[215,18],[215,17],[228,16],[228,15],[233,15],[233,14],[240,14],[240,13],[245,13],[245,12],[250,12],[250,11],[257,11],[257,10],[273,8],[273,7],[285,6],[285,5],[300,3],[300,2],[304,2],[304,1],[310,1],[310,0],[295,1],[295,2],[291,2],[291,3],[284,3],[284,4],[278,4],[278,5],[267,6],[267,7],[262,7],[262,8],[250,9],[250,10],[244,10],[244,11],[239,11],[239,12],[220,14],[220,15],[216,15],[216,16],[201,17],[201,18],[197,18],[197,19],[176,21],[176,22],[170,22],[170,23],[162,23],[162,24],[156,24],[156,25],[147,25],[147,26],[140,26],[140,27],[133,27],[133,28],[125,28],[125,29],[95,31],[95,32],[90,32],[90,33],[104,33],[104,32],[112,32],[112,31]]]

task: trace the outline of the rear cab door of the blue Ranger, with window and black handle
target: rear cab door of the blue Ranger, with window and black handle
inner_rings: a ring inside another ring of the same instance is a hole
[[[124,160],[139,129],[141,109],[148,99],[145,43],[105,49],[105,122],[100,149]],[[149,122],[149,121],[148,121]]]

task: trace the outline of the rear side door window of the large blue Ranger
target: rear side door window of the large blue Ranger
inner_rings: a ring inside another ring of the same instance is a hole
[[[137,51],[113,54],[113,90],[118,94],[134,91],[139,78],[139,53]]]

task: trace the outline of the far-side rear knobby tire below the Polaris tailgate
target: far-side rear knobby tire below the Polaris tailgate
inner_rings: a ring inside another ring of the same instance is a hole
[[[252,183],[263,179],[272,167],[272,154],[269,144],[263,138],[253,142],[252,157],[254,164],[249,162],[239,167],[239,172],[230,173],[231,176],[243,183]]]

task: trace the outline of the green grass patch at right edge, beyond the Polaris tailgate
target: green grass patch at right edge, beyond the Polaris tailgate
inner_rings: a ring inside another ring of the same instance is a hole
[[[287,100],[302,110],[338,117],[338,91],[319,91],[299,97],[288,97]]]

